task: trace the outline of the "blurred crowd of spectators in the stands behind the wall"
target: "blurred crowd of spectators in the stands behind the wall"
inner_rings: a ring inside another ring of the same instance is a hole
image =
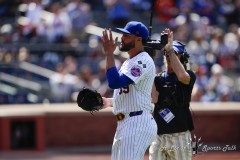
[[[83,86],[112,96],[101,33],[86,28],[149,25],[151,10],[151,39],[170,27],[187,45],[192,101],[240,101],[240,0],[0,0],[0,104],[73,102]]]

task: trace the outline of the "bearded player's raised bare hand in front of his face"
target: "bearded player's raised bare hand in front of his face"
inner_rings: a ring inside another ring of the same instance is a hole
[[[113,40],[112,30],[105,29],[102,33],[102,44],[105,55],[111,55],[117,47],[118,37]]]

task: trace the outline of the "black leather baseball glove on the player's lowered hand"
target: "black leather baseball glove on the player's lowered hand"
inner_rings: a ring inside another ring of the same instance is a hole
[[[96,112],[103,106],[103,99],[100,93],[89,88],[82,88],[77,96],[77,104],[85,111]]]

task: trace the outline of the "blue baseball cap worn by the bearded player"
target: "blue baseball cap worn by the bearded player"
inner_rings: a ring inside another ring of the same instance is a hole
[[[116,29],[123,33],[133,34],[135,36],[142,37],[145,40],[148,39],[148,29],[141,22],[131,21],[131,22],[128,22],[124,28],[116,28]]]

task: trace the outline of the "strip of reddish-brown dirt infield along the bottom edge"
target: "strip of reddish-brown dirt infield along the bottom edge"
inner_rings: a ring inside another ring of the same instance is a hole
[[[0,152],[0,160],[111,160],[110,153]],[[202,153],[193,160],[240,160],[240,152]],[[148,155],[145,159],[148,160]]]

